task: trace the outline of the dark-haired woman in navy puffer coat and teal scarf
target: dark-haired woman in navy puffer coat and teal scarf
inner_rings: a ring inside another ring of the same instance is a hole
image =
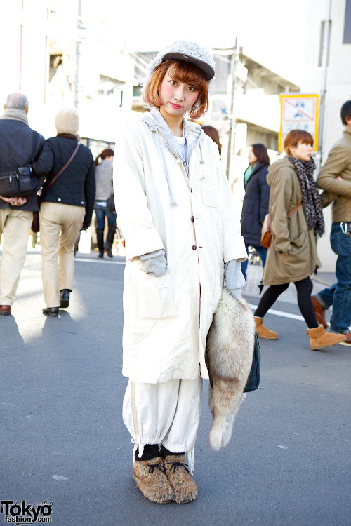
[[[270,187],[267,184],[267,167],[270,165],[267,148],[264,144],[251,144],[249,147],[249,166],[244,173],[245,197],[241,213],[241,234],[246,250],[255,248],[260,255],[263,267],[267,248],[261,246],[261,229],[270,202]],[[241,263],[241,271],[246,279],[248,260]]]

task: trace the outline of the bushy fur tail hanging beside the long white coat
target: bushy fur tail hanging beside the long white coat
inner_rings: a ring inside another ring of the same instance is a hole
[[[213,423],[211,447],[219,450],[230,441],[235,415],[245,399],[251,370],[255,322],[249,304],[232,297],[226,288],[206,340],[206,365],[210,377],[209,405]]]

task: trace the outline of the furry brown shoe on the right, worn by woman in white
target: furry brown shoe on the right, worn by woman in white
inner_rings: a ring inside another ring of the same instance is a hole
[[[164,458],[164,468],[176,495],[175,501],[178,504],[194,501],[197,497],[197,483],[189,473],[184,455],[168,454]]]

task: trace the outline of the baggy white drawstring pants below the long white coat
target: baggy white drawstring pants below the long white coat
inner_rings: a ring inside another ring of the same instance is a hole
[[[202,379],[161,384],[129,380],[123,401],[124,424],[143,454],[145,444],[162,444],[173,453],[187,452],[194,470],[194,444],[201,416]]]

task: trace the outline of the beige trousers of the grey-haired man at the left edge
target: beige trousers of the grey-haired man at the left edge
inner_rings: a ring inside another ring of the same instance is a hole
[[[27,210],[0,210],[0,237],[4,234],[0,275],[0,305],[15,301],[20,273],[25,263],[33,213]]]

